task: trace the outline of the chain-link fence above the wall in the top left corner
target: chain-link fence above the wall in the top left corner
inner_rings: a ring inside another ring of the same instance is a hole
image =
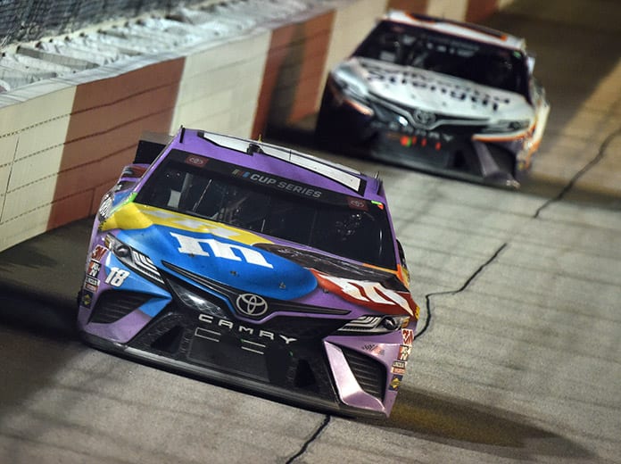
[[[86,28],[91,24],[131,18],[145,12],[170,12],[181,4],[204,0],[0,0],[0,49]]]

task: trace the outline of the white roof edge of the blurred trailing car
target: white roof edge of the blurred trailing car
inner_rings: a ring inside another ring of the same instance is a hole
[[[390,10],[382,18],[384,21],[403,22],[419,28],[431,29],[444,34],[466,37],[477,42],[494,46],[521,50],[526,53],[526,39],[513,36],[500,30],[486,28],[469,22],[452,21],[426,14]]]

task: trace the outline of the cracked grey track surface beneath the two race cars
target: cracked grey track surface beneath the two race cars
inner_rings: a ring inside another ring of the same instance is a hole
[[[621,4],[567,7],[489,21],[528,38],[552,104],[521,191],[325,154],[380,171],[422,308],[390,419],[80,344],[79,221],[0,253],[0,463],[621,462]]]

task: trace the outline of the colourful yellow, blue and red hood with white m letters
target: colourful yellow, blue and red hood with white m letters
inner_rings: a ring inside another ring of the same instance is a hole
[[[265,236],[211,220],[128,203],[104,221],[101,229],[115,230],[117,239],[147,256],[158,269],[172,273],[175,268],[184,269],[241,292],[347,310],[366,307],[390,314],[413,314],[417,308],[409,292],[368,281],[369,277],[390,277],[385,271],[369,269],[359,274],[367,278],[362,286],[370,295],[361,298],[364,289],[351,291],[352,280],[357,280],[351,275],[334,275],[334,259],[328,265],[323,262],[330,261],[328,258],[324,260],[320,253],[308,252],[301,245],[283,247]],[[298,258],[292,259],[292,252]],[[312,261],[300,261],[299,256],[306,253],[312,254]],[[309,262],[312,267],[303,265]]]

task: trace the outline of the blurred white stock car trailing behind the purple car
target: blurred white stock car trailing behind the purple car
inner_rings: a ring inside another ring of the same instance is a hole
[[[320,144],[517,188],[550,112],[526,41],[474,24],[388,12],[327,79]]]

